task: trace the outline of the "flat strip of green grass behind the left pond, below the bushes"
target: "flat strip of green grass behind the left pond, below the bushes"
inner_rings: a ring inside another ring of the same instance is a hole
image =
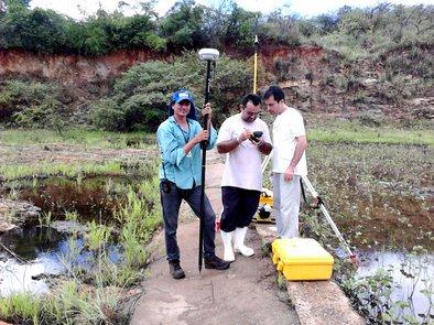
[[[108,131],[95,131],[82,128],[65,129],[62,134],[54,130],[0,130],[0,143],[3,144],[35,144],[35,143],[64,143],[80,144],[89,148],[127,148],[132,144],[145,148],[145,142],[153,142],[153,134],[143,132],[117,133]]]

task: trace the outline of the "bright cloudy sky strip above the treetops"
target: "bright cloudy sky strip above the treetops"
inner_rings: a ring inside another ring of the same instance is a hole
[[[139,0],[123,0],[129,3],[131,8],[134,7]],[[113,11],[118,6],[119,0],[32,0],[31,7],[40,7],[44,9],[53,9],[57,12],[67,14],[75,19],[83,18],[80,10],[87,14],[93,14],[98,9],[99,3],[102,3],[102,9],[106,11]],[[221,0],[196,0],[196,3],[203,3],[206,6],[213,6],[221,2]],[[380,2],[379,0],[274,0],[273,6],[264,8],[264,3],[271,3],[264,0],[236,0],[236,2],[250,11],[261,11],[268,13],[274,9],[281,8],[283,12],[297,13],[302,17],[312,17],[319,13],[327,13],[336,11],[345,4],[351,7],[371,7]],[[434,4],[434,0],[389,0],[390,3],[402,3],[402,4]],[[155,9],[163,15],[173,4],[175,0],[159,0],[156,1]],[[286,6],[286,7],[285,7]],[[126,10],[126,12],[133,13],[133,9]]]

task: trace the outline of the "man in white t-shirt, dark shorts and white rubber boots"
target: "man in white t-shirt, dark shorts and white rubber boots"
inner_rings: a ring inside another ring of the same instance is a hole
[[[242,98],[240,112],[226,119],[217,137],[217,151],[226,153],[221,178],[220,232],[225,247],[224,260],[234,261],[234,249],[252,256],[253,249],[245,246],[247,226],[258,209],[262,188],[261,155],[272,150],[270,132],[258,115],[261,98],[249,94]]]

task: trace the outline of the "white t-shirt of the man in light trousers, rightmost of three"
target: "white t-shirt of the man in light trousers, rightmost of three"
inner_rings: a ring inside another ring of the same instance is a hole
[[[273,172],[284,173],[295,151],[295,138],[305,136],[302,115],[289,107],[273,122]],[[307,175],[306,154],[303,153],[294,169],[295,175]]]

